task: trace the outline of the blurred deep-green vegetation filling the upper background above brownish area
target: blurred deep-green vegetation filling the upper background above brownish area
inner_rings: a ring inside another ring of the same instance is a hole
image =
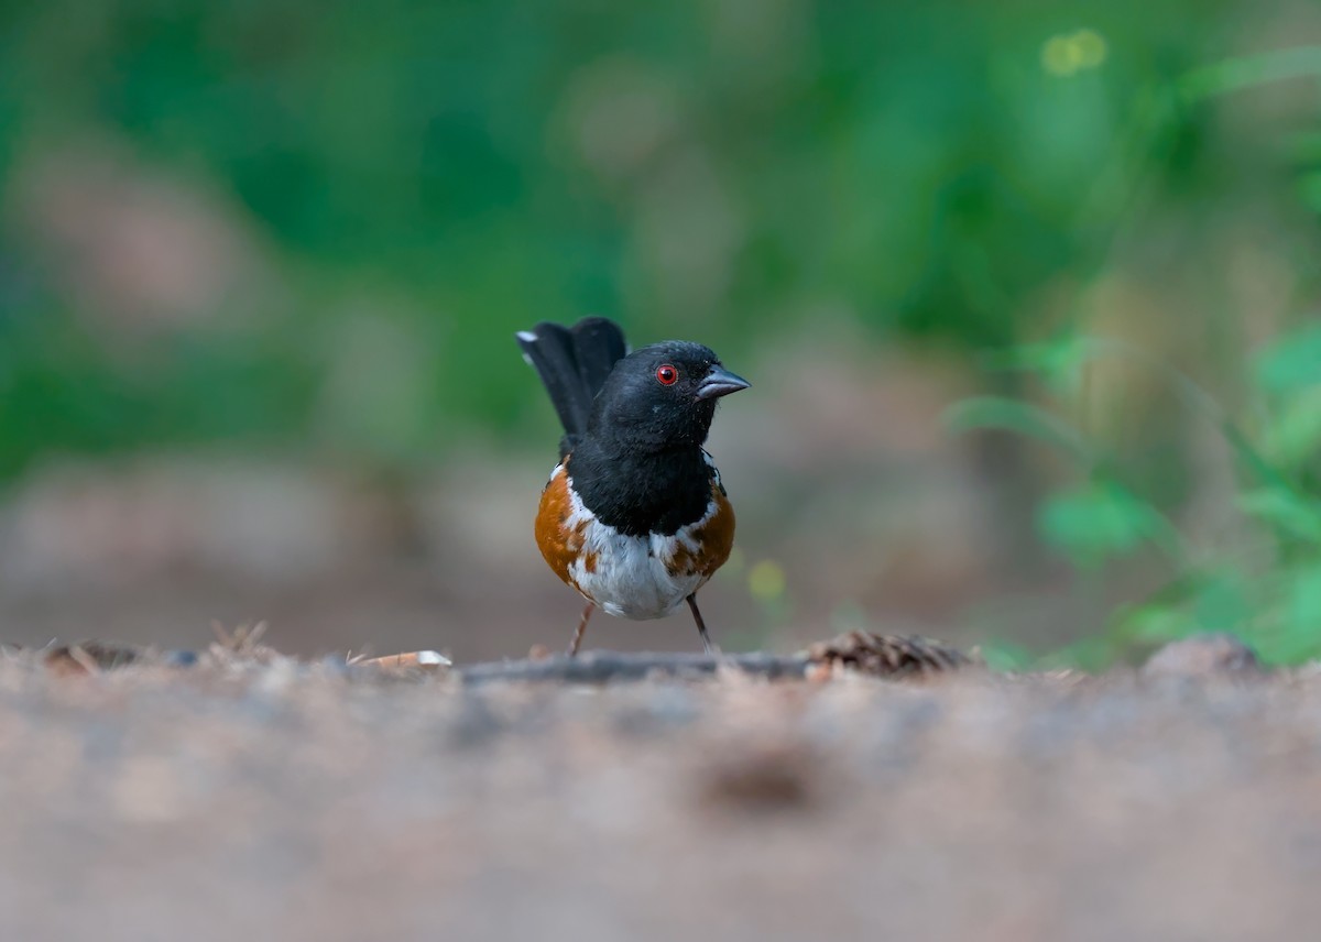
[[[509,334],[543,317],[737,351],[841,303],[878,340],[1018,342],[1036,293],[1106,264],[1131,222],[1115,186],[1206,198],[1251,148],[1217,149],[1185,107],[1162,148],[1124,153],[1144,95],[1247,81],[1190,71],[1239,9],[9,5],[0,392],[38,416],[0,419],[0,470],[46,447],[336,439],[314,419],[337,355],[317,341],[355,316],[345,297],[427,351],[387,461],[454,420],[515,421],[530,394]],[[24,190],[53,156],[107,148],[236,207],[283,289],[251,330],[139,333],[148,371],[100,349]],[[1085,211],[1098,198],[1110,214]]]

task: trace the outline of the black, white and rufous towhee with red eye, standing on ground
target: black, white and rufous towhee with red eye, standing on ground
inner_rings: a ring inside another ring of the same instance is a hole
[[[536,544],[592,610],[660,618],[686,600],[708,653],[717,650],[696,592],[729,558],[734,511],[703,449],[716,400],[748,388],[700,344],[629,353],[618,325],[587,317],[518,334],[523,358],[564,425],[560,464],[542,490]]]

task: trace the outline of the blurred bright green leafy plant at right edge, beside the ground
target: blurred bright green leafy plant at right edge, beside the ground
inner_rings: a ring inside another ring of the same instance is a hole
[[[1041,538],[1087,573],[1155,550],[1164,559],[1168,581],[1149,598],[1120,606],[1104,632],[1052,655],[1048,663],[1100,667],[1197,632],[1238,634],[1268,663],[1321,657],[1321,491],[1301,484],[1296,473],[1300,462],[1316,457],[1321,443],[1308,440],[1308,453],[1299,447],[1300,439],[1281,436],[1281,427],[1310,429],[1310,420],[1303,423],[1287,411],[1281,425],[1281,416],[1269,407],[1280,396],[1310,391],[1321,379],[1316,337],[1314,329],[1303,329],[1272,344],[1251,369],[1244,363],[1255,380],[1259,411],[1266,415],[1262,437],[1287,440],[1284,449],[1259,449],[1234,423],[1206,408],[1207,396],[1186,377],[1166,365],[1144,363],[1185,394],[1185,403],[1193,406],[1190,420],[1213,420],[1229,453],[1243,458],[1234,509],[1244,535],[1232,543],[1189,546],[1155,499],[1139,495],[1122,480],[1118,462],[1098,457],[1086,466],[1089,477],[1042,499],[1037,513]],[[1086,359],[1077,362],[1082,369]],[[1066,408],[1066,403],[1059,407]],[[1052,444],[1074,441],[1073,435],[1058,431],[1067,429],[1067,423],[1038,406],[996,402],[995,408],[987,408],[979,399],[951,415],[952,425],[962,431],[1000,429]],[[1100,454],[1102,449],[1089,443],[1070,444],[1070,451]],[[1287,461],[1272,464],[1264,457],[1281,453]],[[1022,661],[1020,653],[1015,666]]]

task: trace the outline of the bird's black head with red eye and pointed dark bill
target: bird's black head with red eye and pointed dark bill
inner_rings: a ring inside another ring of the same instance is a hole
[[[593,403],[588,435],[635,452],[699,447],[716,400],[745,388],[748,382],[725,370],[709,347],[653,344],[614,365]]]

